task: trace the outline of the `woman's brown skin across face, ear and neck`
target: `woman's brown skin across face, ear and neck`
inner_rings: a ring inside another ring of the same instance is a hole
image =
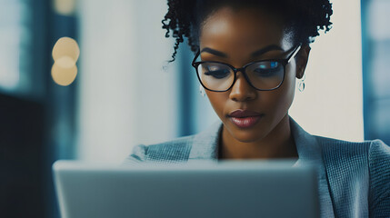
[[[285,33],[282,19],[261,9],[233,10],[225,6],[205,19],[200,29],[200,49],[212,48],[225,57],[202,52],[202,61],[219,61],[236,68],[264,59],[285,59],[295,45],[291,33]],[[268,45],[281,50],[268,51],[255,57],[251,54]],[[303,45],[295,58],[286,65],[285,81],[273,91],[257,91],[247,83],[241,72],[235,85],[228,91],[216,93],[205,90],[215,113],[223,122],[220,159],[286,158],[297,157],[291,135],[288,109],[295,94],[295,77],[305,72],[310,47]],[[250,128],[239,128],[227,116],[236,109],[264,114]]]

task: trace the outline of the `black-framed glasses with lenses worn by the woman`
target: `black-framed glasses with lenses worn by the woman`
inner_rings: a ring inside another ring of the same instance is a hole
[[[259,91],[275,90],[285,80],[285,65],[290,63],[299,52],[301,45],[295,46],[285,59],[260,60],[235,68],[231,64],[215,61],[195,62],[200,51],[194,57],[192,65],[202,86],[213,92],[225,92],[233,87],[237,72],[242,72],[248,84]]]

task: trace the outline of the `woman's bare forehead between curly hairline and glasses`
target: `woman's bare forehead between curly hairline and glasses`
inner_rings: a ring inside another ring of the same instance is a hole
[[[284,46],[290,37],[285,25],[275,15],[261,9],[234,10],[223,7],[208,16],[201,27],[199,42],[202,45],[228,45],[248,48],[262,45]],[[285,45],[290,47],[290,45]]]

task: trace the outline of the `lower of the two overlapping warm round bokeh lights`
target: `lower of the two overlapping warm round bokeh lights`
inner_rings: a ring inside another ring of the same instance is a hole
[[[54,64],[52,67],[52,77],[56,84],[63,86],[72,84],[77,75],[77,66],[63,67],[59,64]]]

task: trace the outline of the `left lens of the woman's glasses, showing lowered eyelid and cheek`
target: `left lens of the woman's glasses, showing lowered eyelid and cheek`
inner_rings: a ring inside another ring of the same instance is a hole
[[[227,90],[235,80],[233,70],[226,64],[203,63],[197,67],[197,73],[202,84],[213,91]]]

